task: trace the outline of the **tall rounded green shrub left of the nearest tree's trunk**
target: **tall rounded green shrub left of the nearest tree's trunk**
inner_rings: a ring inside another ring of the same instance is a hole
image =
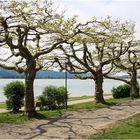
[[[18,112],[23,106],[24,84],[20,81],[13,81],[4,87],[4,95],[7,98],[7,109]]]

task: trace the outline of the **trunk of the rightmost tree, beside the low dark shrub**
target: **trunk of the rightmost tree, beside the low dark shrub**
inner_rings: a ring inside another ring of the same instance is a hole
[[[137,83],[137,71],[133,70],[131,73],[131,80],[130,80],[130,96],[131,97],[139,97],[139,89]]]

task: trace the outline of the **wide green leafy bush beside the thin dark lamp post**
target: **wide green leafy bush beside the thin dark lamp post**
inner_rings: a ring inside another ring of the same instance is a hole
[[[64,87],[47,86],[42,95],[37,97],[36,107],[41,110],[64,108],[66,95]]]

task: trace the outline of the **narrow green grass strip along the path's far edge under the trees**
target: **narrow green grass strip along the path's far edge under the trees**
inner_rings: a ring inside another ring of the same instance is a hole
[[[94,102],[87,102],[87,103],[80,103],[75,105],[68,106],[68,109],[60,109],[60,110],[46,110],[46,111],[38,111],[34,118],[28,118],[23,116],[23,112],[20,113],[0,113],[0,123],[24,123],[28,121],[33,121],[34,119],[42,119],[50,116],[61,116],[67,111],[74,111],[79,109],[93,109],[93,108],[103,108],[107,107],[108,105],[113,105],[114,103],[127,101],[130,98],[123,98],[123,99],[107,99],[107,105],[105,104],[96,104]]]

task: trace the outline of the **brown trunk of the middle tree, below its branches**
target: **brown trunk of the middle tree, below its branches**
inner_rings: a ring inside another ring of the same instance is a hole
[[[103,97],[103,74],[102,69],[96,71],[95,75],[95,102],[96,103],[105,103]]]

